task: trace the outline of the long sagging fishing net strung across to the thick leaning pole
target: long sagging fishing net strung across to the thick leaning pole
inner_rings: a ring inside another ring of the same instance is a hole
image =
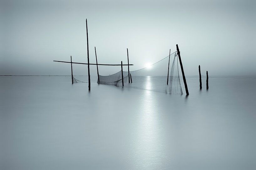
[[[169,55],[165,58],[149,64],[142,69],[130,71],[130,82],[128,83],[128,71],[123,71],[124,87],[142,90],[151,90],[168,94],[183,94],[180,85],[178,56],[176,52],[170,55],[170,71],[167,85]],[[123,66],[128,70],[127,66]],[[131,67],[130,67],[131,70]],[[122,71],[113,75],[99,75],[99,84],[122,86]]]

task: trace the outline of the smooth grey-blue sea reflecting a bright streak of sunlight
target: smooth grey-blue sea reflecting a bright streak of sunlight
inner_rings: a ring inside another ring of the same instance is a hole
[[[0,76],[0,169],[256,169],[256,76],[186,78],[189,96]]]

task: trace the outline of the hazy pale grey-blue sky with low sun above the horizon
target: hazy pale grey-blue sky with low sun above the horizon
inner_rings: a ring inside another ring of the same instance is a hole
[[[2,0],[0,10],[0,75],[70,75],[69,64],[53,60],[87,62],[86,18],[91,63],[94,46],[105,64],[127,63],[128,48],[136,70],[178,44],[186,75],[198,75],[199,64],[209,75],[256,75],[254,0]]]

